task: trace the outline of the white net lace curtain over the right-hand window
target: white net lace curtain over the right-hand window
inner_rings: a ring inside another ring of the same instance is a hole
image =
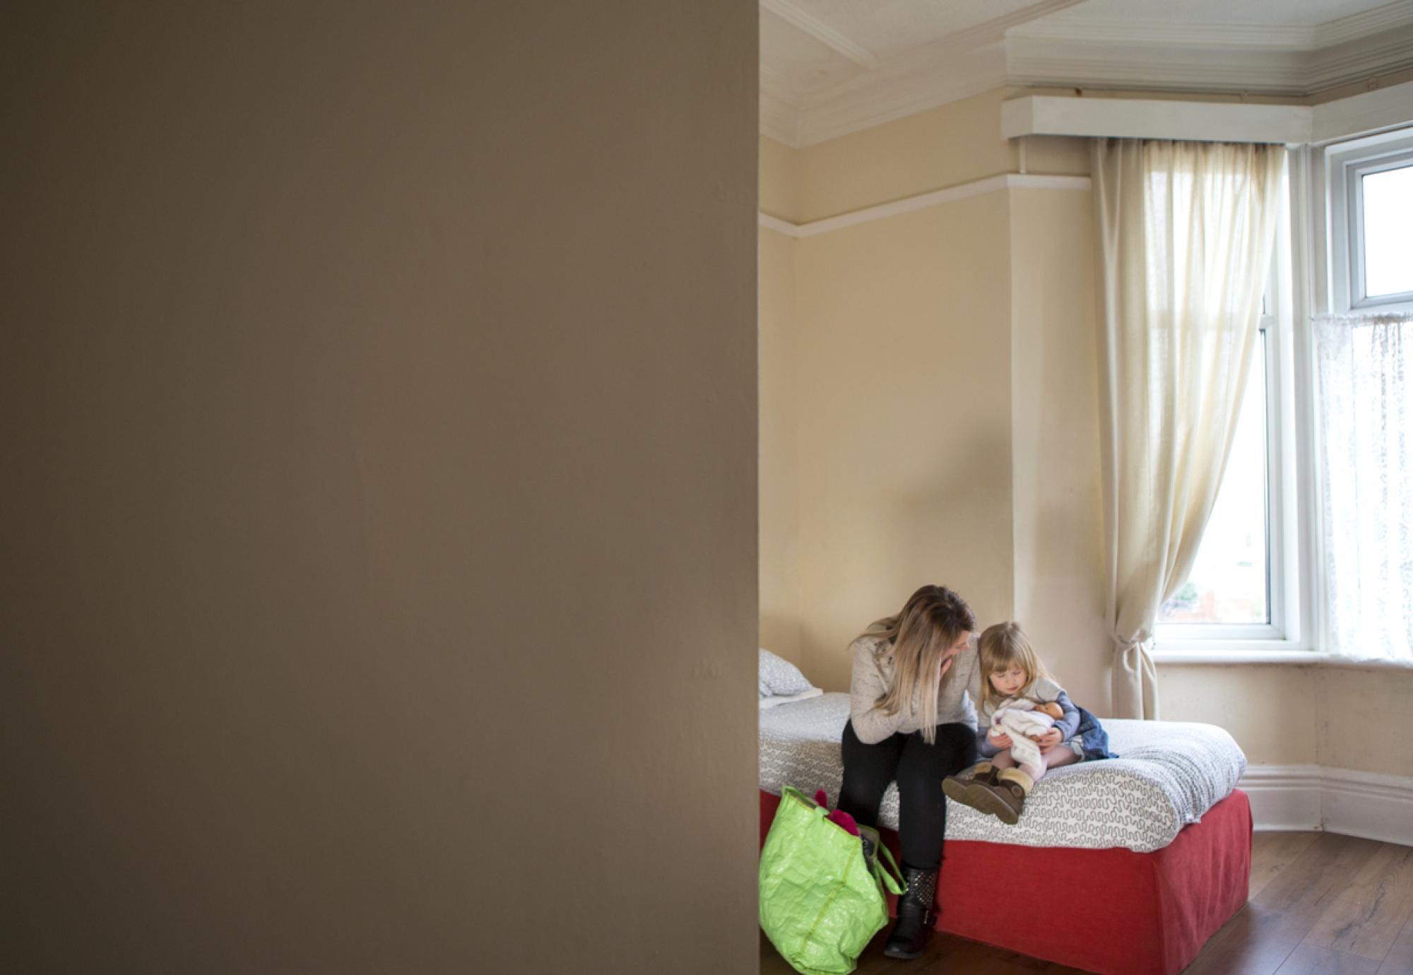
[[[1327,646],[1413,658],[1413,314],[1314,322]]]

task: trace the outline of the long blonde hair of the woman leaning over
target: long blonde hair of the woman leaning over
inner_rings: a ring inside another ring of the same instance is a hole
[[[879,708],[886,715],[896,715],[917,697],[923,740],[928,745],[937,733],[938,694],[951,681],[955,667],[941,681],[937,671],[957,639],[974,629],[976,618],[965,599],[945,586],[924,585],[900,613],[876,620],[863,633],[879,640],[875,653],[893,651],[893,685],[879,698]]]

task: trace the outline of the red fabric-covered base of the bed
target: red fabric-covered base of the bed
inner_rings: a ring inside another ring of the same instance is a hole
[[[762,844],[779,804],[760,793]],[[1022,876],[1051,879],[1046,907],[1007,926],[996,917]],[[1176,975],[1246,903],[1249,878],[1251,803],[1236,790],[1152,853],[951,839],[937,928],[1101,975]]]

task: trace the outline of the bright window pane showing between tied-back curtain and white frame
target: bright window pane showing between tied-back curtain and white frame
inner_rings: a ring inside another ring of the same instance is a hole
[[[1266,551],[1266,333],[1236,421],[1231,458],[1187,582],[1160,623],[1269,623]]]

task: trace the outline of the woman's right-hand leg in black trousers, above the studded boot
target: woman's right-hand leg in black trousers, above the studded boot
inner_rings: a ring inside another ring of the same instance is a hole
[[[947,831],[947,803],[942,779],[969,769],[976,762],[976,732],[968,725],[938,725],[937,740],[909,735],[897,763],[899,844],[903,862],[918,869],[935,869],[942,859]]]

